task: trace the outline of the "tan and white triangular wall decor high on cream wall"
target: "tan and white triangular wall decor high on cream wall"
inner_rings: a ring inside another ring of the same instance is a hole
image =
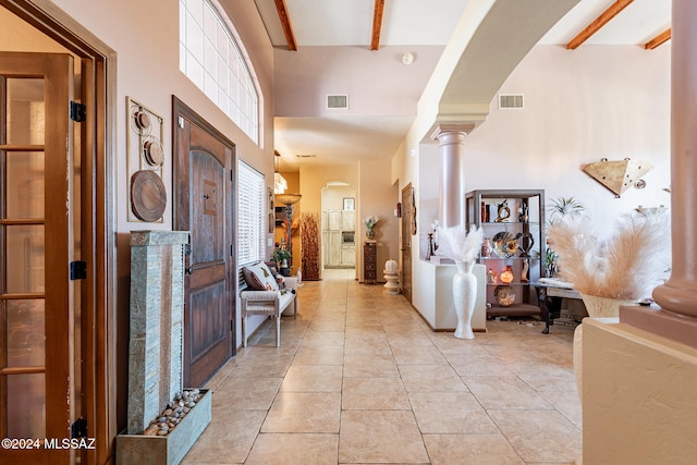
[[[586,174],[612,191],[615,197],[620,197],[632,186],[644,188],[646,181],[640,180],[640,178],[652,169],[653,166],[648,161],[632,160],[629,158],[617,161],[608,161],[607,158],[603,158],[583,168]]]

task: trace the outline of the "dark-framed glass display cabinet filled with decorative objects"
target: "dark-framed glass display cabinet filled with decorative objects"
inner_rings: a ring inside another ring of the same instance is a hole
[[[535,283],[545,270],[545,191],[466,194],[466,224],[484,230],[487,316],[539,315]]]

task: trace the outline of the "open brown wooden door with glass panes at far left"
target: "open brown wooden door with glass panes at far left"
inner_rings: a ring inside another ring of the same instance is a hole
[[[78,408],[72,91],[72,57],[0,52],[0,463],[71,460],[33,441],[70,439]]]

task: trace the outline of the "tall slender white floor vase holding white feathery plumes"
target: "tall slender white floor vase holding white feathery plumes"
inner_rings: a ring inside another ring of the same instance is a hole
[[[455,260],[457,272],[453,277],[453,303],[457,316],[457,327],[454,336],[457,339],[474,339],[472,331],[472,316],[477,299],[477,278],[472,272],[474,260],[481,250],[484,231],[473,225],[466,234],[464,228],[438,228],[441,238],[439,255]]]

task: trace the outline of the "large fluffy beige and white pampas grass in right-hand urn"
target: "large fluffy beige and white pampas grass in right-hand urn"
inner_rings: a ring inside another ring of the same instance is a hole
[[[564,217],[549,229],[559,254],[559,276],[582,294],[640,299],[670,269],[670,221],[665,211],[620,218],[614,234],[598,240],[588,218]]]

